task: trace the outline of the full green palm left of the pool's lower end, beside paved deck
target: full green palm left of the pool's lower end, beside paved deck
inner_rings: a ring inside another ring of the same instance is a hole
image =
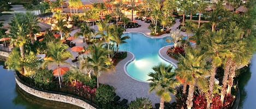
[[[103,48],[103,44],[93,44],[88,48],[91,52],[91,56],[88,58],[88,67],[91,67],[94,74],[97,76],[97,88],[99,87],[100,72],[107,69],[114,69],[111,60],[108,58],[109,52]]]

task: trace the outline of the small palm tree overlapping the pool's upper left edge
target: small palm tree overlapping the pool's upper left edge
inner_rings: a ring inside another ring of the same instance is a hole
[[[122,36],[124,29],[121,27],[114,27],[114,31],[115,31],[114,37],[111,37],[111,40],[116,43],[116,53],[118,53],[119,44],[127,43],[124,40],[130,39],[130,36],[128,36],[128,35]]]

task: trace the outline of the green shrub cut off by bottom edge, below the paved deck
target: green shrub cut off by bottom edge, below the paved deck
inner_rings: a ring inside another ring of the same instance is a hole
[[[136,98],[135,101],[131,101],[128,109],[150,109],[152,108],[151,101],[148,98]]]

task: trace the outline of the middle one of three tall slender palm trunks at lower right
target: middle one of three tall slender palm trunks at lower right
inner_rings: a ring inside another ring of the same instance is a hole
[[[223,80],[222,80],[222,89],[221,89],[221,105],[222,106],[223,106],[225,94],[227,91],[227,82],[228,82],[230,65],[231,65],[231,57],[228,57],[228,60],[225,63],[224,76],[223,76]]]

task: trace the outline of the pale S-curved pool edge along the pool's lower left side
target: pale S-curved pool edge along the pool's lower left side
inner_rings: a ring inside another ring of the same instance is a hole
[[[133,61],[135,60],[135,55],[134,55],[132,52],[129,52],[129,51],[121,51],[121,52],[127,52],[127,53],[129,53],[130,55],[132,55],[132,58],[131,58],[131,59],[127,59],[127,62],[124,63],[124,65],[123,65],[123,70],[124,70],[124,72],[126,73],[126,75],[129,76],[130,78],[136,80],[136,81],[144,82],[144,83],[147,83],[147,84],[150,83],[150,82],[147,82],[147,81],[142,81],[142,80],[139,80],[139,79],[135,79],[135,78],[133,78],[133,76],[129,75],[129,73],[127,72],[127,65],[128,65],[130,62],[133,62]],[[128,56],[128,55],[127,55],[127,56]],[[128,58],[128,57],[126,57],[126,58]]]

